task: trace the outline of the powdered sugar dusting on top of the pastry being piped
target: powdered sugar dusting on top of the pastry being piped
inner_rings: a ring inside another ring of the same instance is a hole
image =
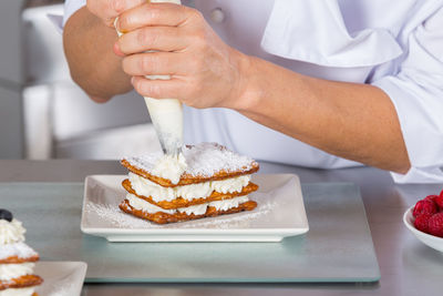
[[[210,177],[220,171],[246,172],[258,165],[253,159],[239,155],[217,143],[199,143],[194,146],[185,146],[183,147],[183,155],[187,163],[185,174],[192,176]],[[124,157],[124,160],[132,166],[153,174],[154,165],[162,156],[163,154],[161,153],[151,153]]]

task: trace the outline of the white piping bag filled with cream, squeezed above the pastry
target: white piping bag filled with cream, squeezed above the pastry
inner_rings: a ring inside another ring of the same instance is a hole
[[[151,0],[148,2],[171,2],[181,4],[181,0]],[[116,24],[116,20],[114,24]],[[123,33],[117,30],[117,34],[121,37]],[[146,79],[168,80],[171,76],[147,75]],[[168,156],[178,157],[183,146],[182,102],[176,99],[153,99],[146,96],[144,99],[163,153]]]

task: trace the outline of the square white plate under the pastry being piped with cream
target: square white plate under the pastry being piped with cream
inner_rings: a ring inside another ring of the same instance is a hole
[[[254,211],[157,225],[119,208],[126,175],[92,175],[84,185],[81,229],[110,242],[280,242],[308,232],[300,181],[292,174],[253,175]]]

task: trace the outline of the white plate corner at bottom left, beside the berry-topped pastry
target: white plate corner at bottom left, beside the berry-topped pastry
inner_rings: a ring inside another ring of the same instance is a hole
[[[79,296],[86,275],[84,262],[38,262],[34,274],[43,278],[40,296]]]

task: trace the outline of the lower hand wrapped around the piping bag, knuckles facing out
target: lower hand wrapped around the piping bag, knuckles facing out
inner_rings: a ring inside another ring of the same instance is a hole
[[[125,55],[123,70],[143,96],[178,99],[194,108],[239,108],[248,57],[225,44],[197,10],[143,4],[123,12],[116,27],[126,32],[115,45]]]

